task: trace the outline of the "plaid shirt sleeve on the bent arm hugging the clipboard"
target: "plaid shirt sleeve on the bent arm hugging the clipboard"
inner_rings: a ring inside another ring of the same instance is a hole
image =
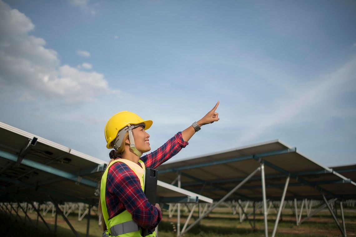
[[[162,213],[148,202],[140,180],[129,166],[122,162],[110,166],[106,182],[105,198],[109,218],[126,209],[139,226],[153,229],[158,225]]]

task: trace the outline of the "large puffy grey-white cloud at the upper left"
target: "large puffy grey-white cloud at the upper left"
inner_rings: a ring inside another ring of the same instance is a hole
[[[61,65],[24,14],[0,0],[0,99],[17,101],[92,101],[112,92],[104,75]],[[82,64],[90,68],[90,64]]]

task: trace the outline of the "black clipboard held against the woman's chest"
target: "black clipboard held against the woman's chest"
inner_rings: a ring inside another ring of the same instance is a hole
[[[145,173],[145,195],[148,201],[152,204],[156,204],[156,196],[157,196],[157,179],[158,178],[158,170],[146,167]],[[153,230],[145,230],[142,228],[143,236],[152,233]]]

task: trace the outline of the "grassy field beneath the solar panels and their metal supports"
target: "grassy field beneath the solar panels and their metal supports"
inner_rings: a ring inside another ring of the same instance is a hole
[[[355,209],[345,209],[345,223],[347,236],[356,236],[356,210]],[[184,212],[182,209],[181,216],[181,228],[183,227],[185,220],[188,216],[188,212]],[[19,211],[22,220],[19,217],[15,220],[15,212],[12,211],[12,217],[9,214],[5,214],[3,211],[0,212],[0,229],[2,232],[1,236],[48,236],[51,235],[45,225],[42,223],[41,219],[37,223],[37,214],[35,211],[29,212],[28,215],[32,219],[35,226],[34,228],[30,225],[29,221],[26,220],[25,225],[23,225],[23,212]],[[42,212],[41,212],[42,215]],[[305,214],[304,214],[305,215]],[[339,219],[340,212],[338,213]],[[195,212],[193,217],[197,218],[198,212]],[[51,230],[54,230],[54,217],[52,217],[49,211],[43,216],[49,225]],[[78,221],[78,212],[71,213],[68,216],[70,223],[73,225],[75,230],[78,232],[79,236],[86,236],[87,229],[87,216],[82,221]],[[250,217],[252,219],[252,217]],[[269,236],[272,234],[274,221],[276,219],[276,212],[271,211],[268,215],[268,231]],[[194,219],[190,220],[193,222]],[[252,224],[253,224],[253,220]],[[15,223],[16,222],[16,223]],[[340,220],[341,223],[341,220]],[[162,222],[159,224],[159,237],[172,237],[176,236],[176,225],[177,225],[177,215],[173,215],[172,218],[168,218],[168,212],[163,211]],[[204,236],[204,237],[232,237],[232,236],[264,236],[263,229],[263,216],[260,212],[256,212],[256,229],[252,230],[249,222],[247,220],[240,223],[239,215],[232,215],[230,209],[223,206],[216,208],[213,212],[209,214],[208,217],[201,220],[199,226],[195,226],[190,230],[185,236]],[[91,212],[90,218],[90,228],[89,236],[97,237],[101,236],[101,226],[98,225],[98,218],[94,212]],[[63,218],[58,215],[57,219],[57,236],[74,236],[73,232],[70,230],[67,223]],[[323,210],[317,215],[313,216],[306,222],[303,222],[300,226],[295,223],[295,215],[290,209],[284,209],[282,212],[282,220],[279,222],[277,235],[276,236],[341,236],[341,232],[337,228],[334,220],[332,219],[330,212],[328,210]]]

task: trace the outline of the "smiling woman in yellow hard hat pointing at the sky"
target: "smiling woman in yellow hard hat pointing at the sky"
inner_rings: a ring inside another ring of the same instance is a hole
[[[106,147],[110,162],[101,179],[100,203],[103,214],[103,236],[138,237],[141,228],[154,229],[161,221],[161,208],[150,204],[144,194],[145,166],[156,168],[188,145],[189,139],[200,127],[218,121],[215,112],[219,102],[203,118],[178,132],[156,151],[151,150],[146,132],[151,120],[122,111],[112,116],[105,126]],[[155,232],[148,236],[156,236]]]

